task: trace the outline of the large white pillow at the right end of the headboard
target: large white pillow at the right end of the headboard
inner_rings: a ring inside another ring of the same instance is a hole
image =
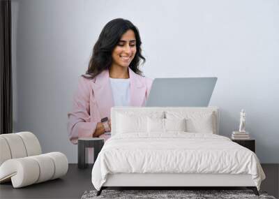
[[[186,131],[190,133],[216,133],[214,112],[167,111],[167,119],[186,118]]]

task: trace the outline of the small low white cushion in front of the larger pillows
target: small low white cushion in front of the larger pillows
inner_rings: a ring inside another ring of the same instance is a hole
[[[186,131],[186,119],[147,118],[147,132]]]

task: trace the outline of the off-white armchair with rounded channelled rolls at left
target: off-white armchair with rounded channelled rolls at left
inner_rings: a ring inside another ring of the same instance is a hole
[[[66,175],[68,159],[60,152],[41,154],[40,142],[31,132],[0,135],[0,183],[14,188]]]

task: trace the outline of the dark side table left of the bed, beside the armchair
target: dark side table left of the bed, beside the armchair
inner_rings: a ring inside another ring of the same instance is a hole
[[[96,160],[100,150],[104,145],[103,138],[79,138],[77,141],[77,167],[86,168],[88,163],[86,163],[86,148],[94,148],[94,157]]]

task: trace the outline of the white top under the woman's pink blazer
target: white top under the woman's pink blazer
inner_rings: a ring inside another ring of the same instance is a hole
[[[128,106],[130,104],[130,79],[110,78],[114,106]]]

